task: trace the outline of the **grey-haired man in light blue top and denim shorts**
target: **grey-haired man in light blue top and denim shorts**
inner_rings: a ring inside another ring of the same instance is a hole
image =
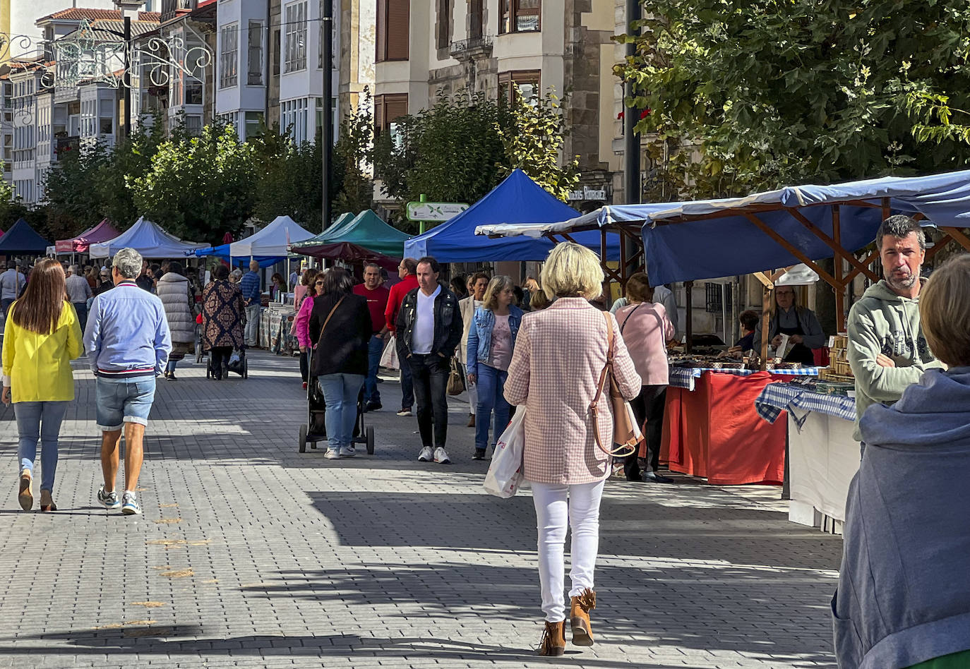
[[[135,497],[142,471],[143,441],[148,413],[155,398],[155,377],[172,351],[165,308],[158,297],[138,287],[142,254],[123,248],[114,256],[114,289],[91,303],[84,330],[84,351],[95,376],[96,416],[101,430],[101,469],[105,485],[98,501],[121,507],[125,515],[142,513]],[[114,482],[118,447],[124,429],[124,494],[118,499]]]

